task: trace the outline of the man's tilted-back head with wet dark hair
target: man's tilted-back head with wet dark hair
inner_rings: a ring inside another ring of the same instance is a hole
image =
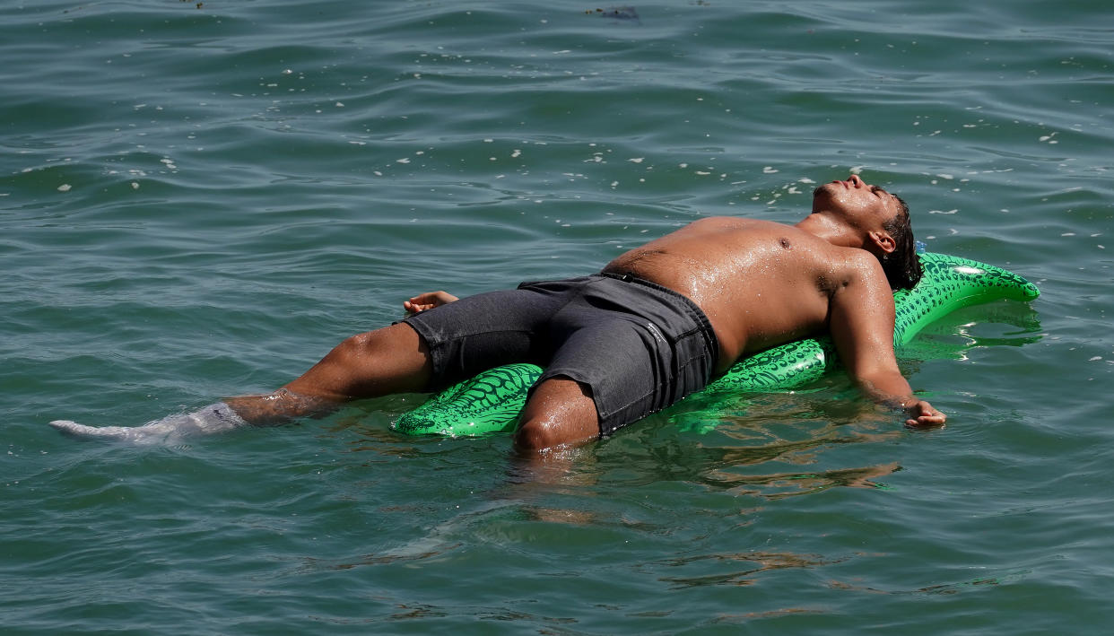
[[[841,244],[873,254],[890,287],[907,290],[920,281],[920,260],[912,237],[909,206],[901,197],[864,183],[858,175],[815,189],[812,213],[842,228]]]

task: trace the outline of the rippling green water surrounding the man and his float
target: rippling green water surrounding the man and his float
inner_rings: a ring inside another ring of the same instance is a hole
[[[0,4],[4,634],[1108,630],[1101,2]],[[420,395],[82,443],[270,391],[402,299],[582,274],[861,172],[1044,292],[831,376],[520,461]]]

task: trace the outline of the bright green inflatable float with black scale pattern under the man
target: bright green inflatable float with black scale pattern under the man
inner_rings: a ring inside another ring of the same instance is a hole
[[[893,344],[906,344],[930,322],[960,307],[996,301],[1032,301],[1040,292],[1022,276],[994,265],[924,253],[925,275],[912,290],[893,293]],[[831,339],[799,340],[735,363],[697,395],[754,393],[800,387],[837,364]],[[498,366],[446,389],[403,414],[394,429],[408,434],[482,436],[512,431],[526,393],[541,375],[529,363]]]

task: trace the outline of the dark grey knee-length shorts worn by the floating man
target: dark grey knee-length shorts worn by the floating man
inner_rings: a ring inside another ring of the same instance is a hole
[[[712,378],[719,342],[704,312],[634,276],[522,283],[405,319],[429,346],[430,390],[511,362],[590,388],[600,434],[659,411]]]

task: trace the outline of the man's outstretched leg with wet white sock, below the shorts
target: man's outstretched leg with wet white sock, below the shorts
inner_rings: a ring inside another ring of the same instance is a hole
[[[76,437],[131,442],[276,425],[295,418],[322,417],[349,400],[422,391],[431,370],[429,351],[418,333],[405,324],[394,324],[345,340],[273,393],[227,398],[141,427],[98,428],[69,420],[55,420],[50,425]]]

